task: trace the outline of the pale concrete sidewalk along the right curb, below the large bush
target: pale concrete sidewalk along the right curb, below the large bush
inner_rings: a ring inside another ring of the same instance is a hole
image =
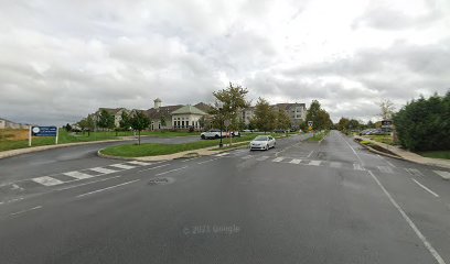
[[[420,155],[418,155],[416,153],[403,150],[403,148],[400,148],[398,146],[388,145],[388,144],[385,144],[385,143],[381,143],[381,142],[377,142],[377,141],[369,140],[367,138],[357,136],[357,135],[355,135],[353,138],[354,139],[361,139],[363,141],[368,141],[368,142],[371,142],[373,144],[382,146],[382,147],[388,150],[389,152],[396,154],[399,158],[405,160],[405,161],[409,161],[409,162],[414,162],[414,163],[418,163],[418,164],[424,164],[424,165],[431,165],[431,166],[439,166],[439,167],[450,168],[450,161],[449,160],[424,157],[424,156],[420,156]]]

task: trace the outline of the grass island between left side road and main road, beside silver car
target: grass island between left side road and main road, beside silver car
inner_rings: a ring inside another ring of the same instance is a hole
[[[234,138],[233,142],[237,143],[243,141],[249,141],[251,139],[254,139],[254,136],[243,135],[240,138]],[[222,141],[224,144],[229,143],[229,139],[223,139]],[[156,143],[147,143],[141,145],[128,144],[106,147],[105,150],[101,151],[101,153],[106,155],[124,157],[158,156],[184,151],[193,151],[208,146],[215,146],[218,145],[218,143],[219,140],[203,140],[185,144],[156,144]]]

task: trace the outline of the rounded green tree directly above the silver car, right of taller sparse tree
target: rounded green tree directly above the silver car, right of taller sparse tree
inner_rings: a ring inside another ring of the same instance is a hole
[[[272,131],[277,125],[277,113],[270,107],[269,102],[258,98],[255,106],[254,124],[259,131]]]

